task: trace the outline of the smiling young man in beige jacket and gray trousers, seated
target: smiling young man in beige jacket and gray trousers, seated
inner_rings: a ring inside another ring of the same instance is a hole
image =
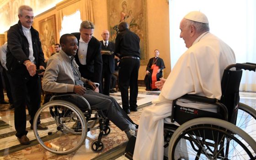
[[[91,107],[101,110],[112,123],[128,138],[135,134],[136,125],[111,96],[106,96],[83,87],[84,83],[96,87],[90,80],[81,77],[74,56],[78,49],[77,38],[72,34],[60,37],[61,50],[54,54],[47,64],[43,76],[43,90],[54,93],[75,92],[90,103]],[[101,75],[99,75],[101,76]],[[81,108],[82,109],[82,108]]]

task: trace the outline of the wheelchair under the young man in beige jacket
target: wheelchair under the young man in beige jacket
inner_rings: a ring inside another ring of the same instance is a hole
[[[37,121],[48,126],[38,130]],[[38,143],[49,152],[58,155],[72,153],[85,144],[87,132],[100,129],[98,139],[91,143],[91,149],[100,152],[104,148],[102,136],[110,133],[109,120],[101,110],[75,93],[57,94],[38,109],[33,131]]]

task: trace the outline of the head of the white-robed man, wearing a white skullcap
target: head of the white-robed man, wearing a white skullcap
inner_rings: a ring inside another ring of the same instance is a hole
[[[187,48],[190,48],[202,33],[210,30],[208,23],[207,17],[199,11],[192,11],[184,16],[180,23],[180,37],[183,38]]]

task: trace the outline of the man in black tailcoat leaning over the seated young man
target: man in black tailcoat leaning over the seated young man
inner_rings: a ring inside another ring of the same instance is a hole
[[[75,55],[75,62],[79,65],[79,71],[82,77],[101,86],[101,43],[92,36],[93,32],[94,24],[91,21],[83,21],[80,25],[80,32],[72,33],[78,40],[78,51]],[[99,92],[99,88],[96,85],[91,89]]]

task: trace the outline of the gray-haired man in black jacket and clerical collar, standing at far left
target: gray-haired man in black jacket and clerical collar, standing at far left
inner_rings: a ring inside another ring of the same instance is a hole
[[[14,124],[16,137],[21,144],[30,144],[26,131],[26,104],[30,106],[30,123],[41,103],[41,81],[36,69],[45,69],[44,56],[37,30],[32,27],[34,19],[30,6],[18,9],[19,21],[7,33],[6,67],[14,87]],[[29,99],[29,101],[27,101]],[[47,129],[37,122],[37,129]]]

